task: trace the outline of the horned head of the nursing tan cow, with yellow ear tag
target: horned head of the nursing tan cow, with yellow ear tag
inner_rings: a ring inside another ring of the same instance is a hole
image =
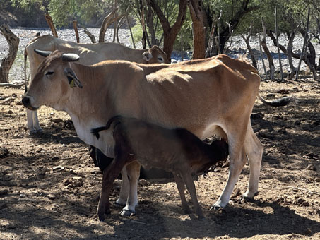
[[[54,107],[57,102],[69,97],[70,88],[82,88],[76,73],[71,68],[72,61],[78,61],[77,54],[45,52],[35,49],[37,54],[46,56],[38,66],[28,92],[23,97],[23,105],[35,110],[41,105]]]

